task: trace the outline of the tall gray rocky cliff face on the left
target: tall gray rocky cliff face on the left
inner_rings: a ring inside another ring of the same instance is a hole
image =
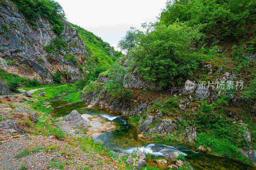
[[[52,83],[52,74],[57,71],[65,83],[82,78],[82,67],[91,57],[77,31],[65,21],[63,32],[57,36],[46,19],[39,17],[35,22],[37,28],[26,21],[12,2],[0,4],[0,67],[44,83]],[[54,38],[64,39],[67,48],[45,51],[44,46],[49,46]],[[77,62],[67,60],[68,55],[74,56]]]

